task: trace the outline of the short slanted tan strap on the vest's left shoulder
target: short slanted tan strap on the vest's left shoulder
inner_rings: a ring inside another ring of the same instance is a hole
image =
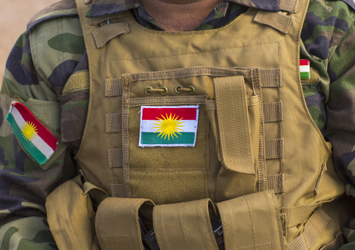
[[[98,49],[105,47],[106,43],[116,36],[129,33],[129,26],[126,22],[106,24],[92,32],[95,45]]]

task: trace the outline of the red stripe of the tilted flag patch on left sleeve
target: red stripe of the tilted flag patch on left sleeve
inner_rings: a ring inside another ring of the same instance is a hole
[[[34,117],[33,114],[31,114],[31,111],[29,111],[29,109],[27,109],[24,104],[20,102],[15,102],[12,104],[12,106],[20,112],[21,116],[24,118],[25,121],[30,121],[31,123],[34,123],[37,128],[38,136],[40,136],[43,141],[45,141],[45,143],[47,143],[48,146],[52,148],[53,151],[57,150],[57,137],[55,137],[49,130],[47,130],[45,126],[43,126],[42,123],[40,123],[37,118]]]

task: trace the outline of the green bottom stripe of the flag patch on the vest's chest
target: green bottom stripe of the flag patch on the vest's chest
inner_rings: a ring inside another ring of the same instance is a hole
[[[142,132],[140,137],[140,144],[194,144],[195,141],[195,133],[194,132],[182,132],[181,134],[175,133],[174,139],[168,140],[168,136],[166,139],[158,137],[159,133],[154,132]]]

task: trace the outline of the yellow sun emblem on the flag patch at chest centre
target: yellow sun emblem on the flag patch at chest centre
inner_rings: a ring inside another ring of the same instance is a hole
[[[179,127],[184,127],[184,125],[180,125],[182,123],[184,123],[184,121],[180,122],[180,120],[182,120],[182,118],[180,120],[178,120],[179,116],[175,115],[173,117],[168,116],[168,114],[166,114],[166,117],[164,117],[163,115],[161,115],[161,118],[157,118],[158,120],[155,120],[155,122],[157,124],[153,124],[156,125],[157,127],[153,127],[153,130],[157,129],[157,131],[155,131],[154,133],[160,132],[157,137],[159,137],[161,135],[160,138],[163,138],[164,136],[164,140],[166,139],[166,136],[168,136],[168,140],[170,140],[170,136],[171,139],[174,139],[174,136],[176,136],[176,138],[178,138],[178,136],[175,133],[181,134],[180,132],[178,132],[178,130],[180,131],[184,131],[181,130]]]

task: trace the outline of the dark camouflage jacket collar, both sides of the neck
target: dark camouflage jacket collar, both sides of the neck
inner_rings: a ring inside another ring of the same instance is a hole
[[[280,11],[277,0],[229,0],[259,10]],[[86,17],[103,17],[140,6],[139,0],[93,0]]]

